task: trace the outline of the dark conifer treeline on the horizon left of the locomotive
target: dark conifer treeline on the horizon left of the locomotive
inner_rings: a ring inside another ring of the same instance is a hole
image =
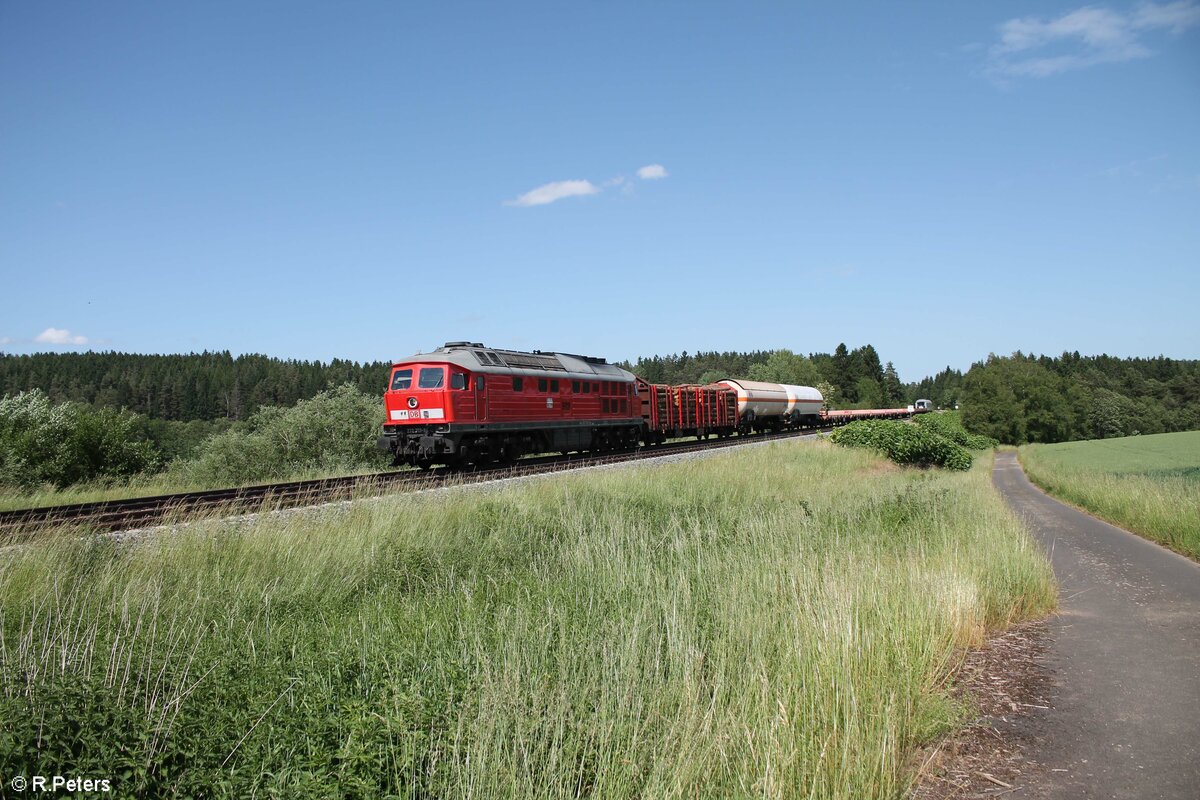
[[[245,420],[330,386],[382,395],[390,363],[295,361],[222,353],[0,354],[0,397],[40,389],[52,403],[125,408],[156,420]]]

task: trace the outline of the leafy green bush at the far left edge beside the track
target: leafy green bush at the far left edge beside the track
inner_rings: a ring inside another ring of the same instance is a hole
[[[82,403],[55,405],[40,389],[0,399],[0,483],[30,489],[124,477],[155,464],[138,416]]]

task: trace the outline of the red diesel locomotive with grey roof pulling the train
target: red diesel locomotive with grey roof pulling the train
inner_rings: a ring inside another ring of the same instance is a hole
[[[416,467],[632,447],[635,380],[593,356],[448,342],[392,365],[378,446]]]

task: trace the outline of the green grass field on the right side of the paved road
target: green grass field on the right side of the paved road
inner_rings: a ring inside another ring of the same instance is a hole
[[[1026,445],[1020,459],[1055,497],[1200,559],[1200,431]]]

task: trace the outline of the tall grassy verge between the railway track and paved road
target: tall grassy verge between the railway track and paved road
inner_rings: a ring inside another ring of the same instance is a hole
[[[0,774],[119,795],[895,798],[1046,613],[991,491],[826,444],[0,563]]]

